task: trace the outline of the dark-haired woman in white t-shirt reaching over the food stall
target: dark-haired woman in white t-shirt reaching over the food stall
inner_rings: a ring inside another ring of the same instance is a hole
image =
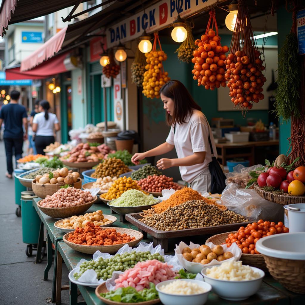
[[[210,192],[211,174],[209,163],[212,161],[210,140],[214,156],[217,158],[214,138],[201,108],[193,100],[180,81],[169,81],[160,89],[163,108],[166,110],[166,122],[170,133],[163,144],[142,153],[136,153],[131,161],[146,157],[159,156],[176,149],[178,159],[162,158],[157,161],[161,170],[179,166],[181,178],[189,187],[198,192]]]

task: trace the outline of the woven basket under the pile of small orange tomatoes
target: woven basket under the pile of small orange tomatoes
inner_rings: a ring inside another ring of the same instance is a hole
[[[206,244],[208,242],[213,242],[214,245],[221,245],[222,243],[224,243],[226,241],[226,238],[228,237],[228,234],[230,234],[230,233],[236,233],[236,231],[211,236],[209,239],[206,240]],[[244,253],[242,253],[242,257],[240,259],[242,260],[243,264],[245,264],[245,265],[257,267],[265,272],[268,272],[268,268],[266,266],[266,263],[265,263],[265,260],[264,260],[264,257],[262,254],[244,254]]]

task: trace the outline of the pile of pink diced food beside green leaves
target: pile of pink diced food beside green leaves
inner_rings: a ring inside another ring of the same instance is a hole
[[[138,262],[135,267],[126,270],[115,280],[115,289],[119,287],[134,287],[137,291],[149,288],[149,282],[157,285],[160,282],[173,279],[177,274],[172,265],[159,260]]]

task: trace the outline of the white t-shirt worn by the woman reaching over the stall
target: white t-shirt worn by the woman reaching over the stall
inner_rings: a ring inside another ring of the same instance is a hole
[[[194,152],[206,152],[203,163],[179,167],[181,178],[188,183],[194,181],[200,174],[209,172],[209,163],[212,161],[208,140],[209,133],[214,156],[217,158],[216,146],[210,126],[201,111],[194,109],[192,115],[188,115],[185,118],[185,123],[176,124],[175,132],[173,126],[170,128],[166,142],[170,145],[175,145],[178,158],[191,156]]]

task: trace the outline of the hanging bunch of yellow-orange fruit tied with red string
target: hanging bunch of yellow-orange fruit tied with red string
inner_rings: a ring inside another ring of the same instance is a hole
[[[159,36],[154,33],[155,39],[152,46],[152,51],[145,53],[146,63],[143,90],[142,93],[148,98],[160,98],[159,91],[161,87],[170,80],[168,72],[164,72],[163,61],[167,59],[167,55],[162,51]],[[156,49],[157,41],[160,50]]]

